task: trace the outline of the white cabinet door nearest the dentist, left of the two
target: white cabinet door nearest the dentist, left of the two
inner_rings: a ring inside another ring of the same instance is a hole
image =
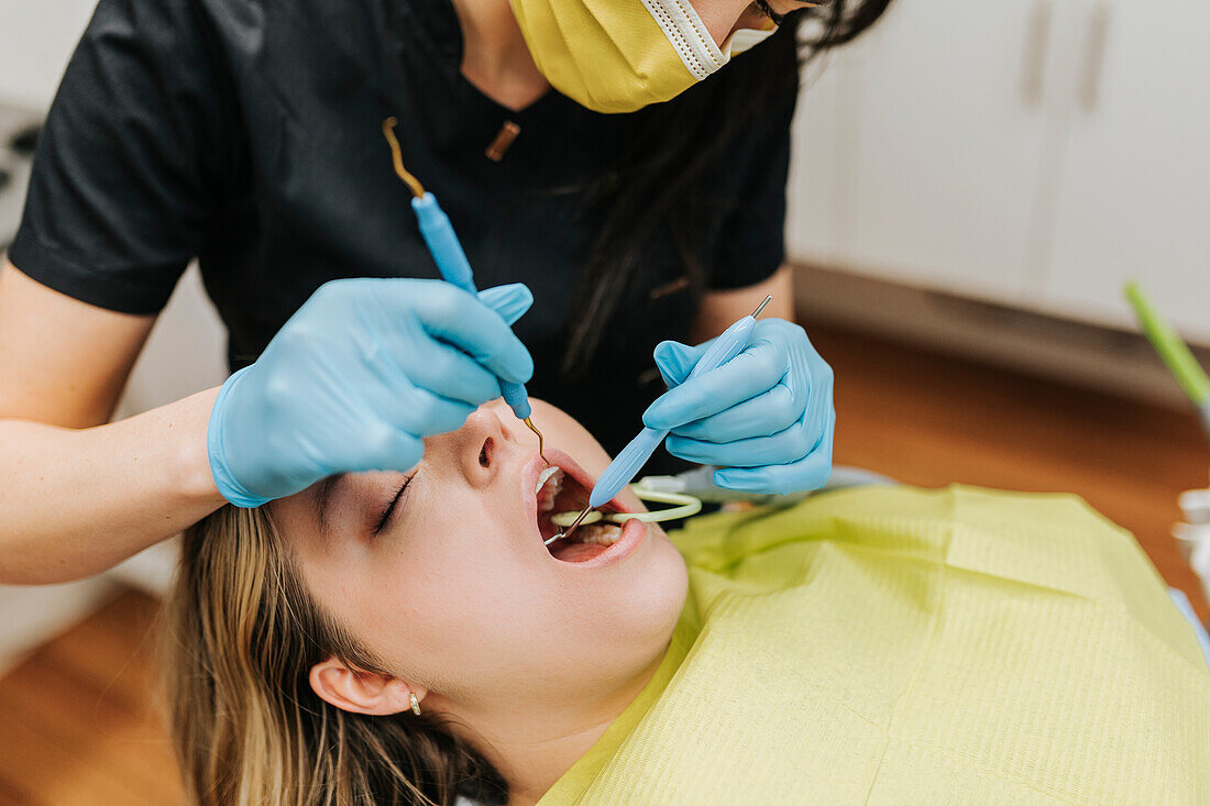
[[[837,253],[886,278],[1015,301],[1042,261],[1047,92],[1066,0],[897,0],[843,57],[853,105]]]

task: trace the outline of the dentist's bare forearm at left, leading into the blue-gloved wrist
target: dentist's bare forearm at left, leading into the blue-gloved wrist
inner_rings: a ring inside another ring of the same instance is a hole
[[[221,506],[206,453],[217,393],[93,428],[0,419],[0,582],[98,574]]]

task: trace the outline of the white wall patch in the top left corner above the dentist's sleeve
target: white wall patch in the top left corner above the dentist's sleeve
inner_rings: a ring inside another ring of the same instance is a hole
[[[0,100],[46,109],[96,0],[0,1]]]

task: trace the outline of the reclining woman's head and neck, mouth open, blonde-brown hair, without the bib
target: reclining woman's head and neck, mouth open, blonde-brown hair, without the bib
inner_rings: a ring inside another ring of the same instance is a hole
[[[335,477],[189,532],[172,702],[196,796],[442,804],[459,787],[503,800],[507,782],[532,802],[634,700],[685,563],[639,522],[543,546],[540,505],[580,509],[609,456],[563,411],[534,416],[560,448],[557,501],[559,474],[536,491],[536,439],[497,402],[426,441],[411,473]]]

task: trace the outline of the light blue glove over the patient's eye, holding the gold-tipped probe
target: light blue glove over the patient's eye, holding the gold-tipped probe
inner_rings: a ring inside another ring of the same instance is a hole
[[[534,361],[511,324],[523,284],[478,297],[436,280],[338,280],[223,385],[207,447],[223,496],[243,507],[335,473],[407,471],[422,439],[454,431],[525,382]]]

